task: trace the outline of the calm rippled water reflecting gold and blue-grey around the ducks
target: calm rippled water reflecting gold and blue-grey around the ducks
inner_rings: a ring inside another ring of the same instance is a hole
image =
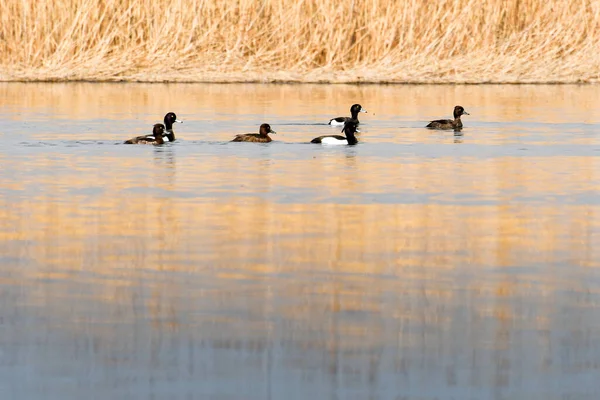
[[[307,143],[355,102],[359,145]],[[597,399],[599,86],[3,83],[0,117],[2,399]]]

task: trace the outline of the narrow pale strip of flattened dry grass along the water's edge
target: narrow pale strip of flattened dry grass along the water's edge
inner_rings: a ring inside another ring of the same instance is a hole
[[[104,66],[103,66],[104,67]],[[229,68],[227,68],[229,67]],[[555,70],[548,74],[527,72],[522,68],[510,73],[491,73],[481,68],[462,67],[448,73],[447,70],[424,71],[414,67],[397,66],[391,70],[378,71],[361,66],[352,70],[334,68],[313,70],[248,69],[227,66],[221,71],[212,66],[196,68],[131,68],[127,71],[111,71],[110,68],[21,68],[0,66],[0,82],[115,82],[115,83],[246,83],[246,84],[353,84],[353,85],[558,85],[600,83],[600,71],[593,68],[583,72]]]

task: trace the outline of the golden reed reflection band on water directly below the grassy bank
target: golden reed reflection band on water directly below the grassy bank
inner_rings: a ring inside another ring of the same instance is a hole
[[[101,93],[101,96],[98,94]],[[232,95],[234,93],[235,95]],[[249,104],[248,99],[254,101]],[[161,85],[161,84],[90,84],[90,83],[2,83],[0,82],[0,104],[27,110],[26,113],[8,113],[8,120],[32,116],[37,112],[51,113],[54,120],[80,121],[104,119],[110,116],[119,123],[130,123],[126,138],[145,134],[153,123],[162,122],[165,112],[174,110],[182,118],[198,115],[197,104],[210,105],[208,113],[215,125],[230,122],[231,115],[276,115],[281,120],[296,120],[308,123],[327,122],[332,115],[348,112],[348,99],[360,99],[370,113],[363,122],[389,120],[400,116],[436,118],[446,115],[448,104],[468,98],[476,104],[470,120],[465,126],[481,119],[496,121],[527,121],[532,119],[532,105],[543,102],[546,107],[564,108],[565,104],[577,104],[569,114],[552,112],[543,114],[543,122],[582,123],[596,122],[596,105],[600,103],[600,92],[594,86],[455,86],[440,90],[439,86],[384,86],[384,85]],[[307,103],[316,104],[315,108]],[[401,111],[400,111],[401,110]],[[32,115],[33,114],[33,115]],[[375,115],[373,115],[375,114]],[[206,114],[204,114],[206,115]],[[108,122],[103,122],[108,123]],[[424,126],[424,124],[423,124]],[[178,135],[190,137],[192,125],[178,126]],[[252,131],[254,129],[251,129]],[[277,130],[277,129],[275,129]],[[98,134],[109,136],[106,126]],[[321,131],[319,131],[321,132]],[[365,130],[365,133],[367,131]],[[469,131],[467,131],[469,132]],[[231,131],[223,140],[231,139]],[[240,132],[236,132],[240,133]],[[326,130],[324,134],[334,133]],[[337,133],[337,132],[335,132]],[[114,133],[117,138],[117,134]],[[414,132],[414,140],[423,138],[422,131]],[[315,135],[317,136],[317,135]],[[472,135],[471,135],[472,136]],[[314,136],[313,136],[314,137]],[[121,134],[118,138],[123,138]],[[206,139],[204,136],[203,139]],[[275,138],[284,141],[284,135]],[[285,136],[285,141],[289,140]],[[369,140],[364,133],[360,140]],[[307,141],[306,137],[303,141]]]

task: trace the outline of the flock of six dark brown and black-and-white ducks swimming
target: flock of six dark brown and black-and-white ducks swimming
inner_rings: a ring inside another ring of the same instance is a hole
[[[311,140],[311,143],[319,144],[342,144],[342,145],[354,145],[358,143],[356,139],[356,133],[358,130],[358,114],[365,110],[360,104],[354,104],[350,107],[350,117],[337,117],[329,120],[329,125],[332,126],[343,126],[342,135],[324,135],[319,136]],[[462,106],[454,107],[454,119],[438,119],[431,121],[427,124],[426,128],[430,129],[443,129],[443,130],[461,130],[463,127],[460,117],[463,115],[469,115],[468,112]],[[177,115],[173,112],[165,115],[164,124],[155,124],[152,129],[152,134],[143,135],[131,138],[125,141],[125,144],[153,144],[161,145],[165,143],[165,138],[169,142],[175,140],[175,132],[173,131],[173,124],[175,122],[183,123],[177,119]],[[245,133],[236,135],[232,142],[258,142],[258,143],[269,143],[272,141],[269,134],[277,133],[269,124],[262,124],[258,130],[258,133]]]

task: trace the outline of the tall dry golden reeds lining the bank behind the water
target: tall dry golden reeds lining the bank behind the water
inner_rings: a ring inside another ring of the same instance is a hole
[[[593,82],[600,0],[0,0],[0,79]]]

